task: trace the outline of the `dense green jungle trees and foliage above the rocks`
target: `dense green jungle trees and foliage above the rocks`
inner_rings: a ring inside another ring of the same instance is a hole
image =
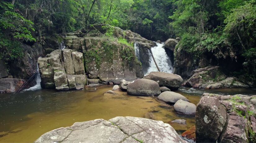
[[[255,0],[0,0],[0,59],[21,58],[20,42],[105,23],[150,40],[180,37],[179,46],[200,58],[242,59],[255,79]]]

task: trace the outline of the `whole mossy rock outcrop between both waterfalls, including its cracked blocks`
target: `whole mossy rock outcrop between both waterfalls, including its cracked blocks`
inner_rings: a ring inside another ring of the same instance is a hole
[[[123,79],[133,81],[144,76],[133,43],[145,49],[155,43],[118,27],[108,27],[113,35],[106,36],[108,29],[102,26],[90,27],[86,34],[83,30],[64,34],[66,49],[38,59],[43,88],[81,89],[87,77],[88,84],[97,85],[119,84]]]

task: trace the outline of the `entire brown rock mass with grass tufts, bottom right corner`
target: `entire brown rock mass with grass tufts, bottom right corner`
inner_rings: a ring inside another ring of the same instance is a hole
[[[255,97],[204,93],[196,108],[196,142],[255,142]]]

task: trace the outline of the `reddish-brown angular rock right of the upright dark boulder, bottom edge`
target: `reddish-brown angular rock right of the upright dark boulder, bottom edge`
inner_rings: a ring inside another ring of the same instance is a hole
[[[247,120],[240,116],[227,116],[227,129],[224,130],[220,142],[248,142]]]

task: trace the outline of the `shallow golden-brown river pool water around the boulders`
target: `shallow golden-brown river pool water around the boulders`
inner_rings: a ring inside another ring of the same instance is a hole
[[[113,86],[87,88],[81,91],[56,92],[41,89],[18,94],[0,95],[0,142],[34,142],[43,133],[52,129],[71,126],[74,122],[94,119],[109,120],[116,116],[145,117],[150,112],[155,120],[165,123],[185,119],[186,126],[173,128],[181,134],[195,125],[195,118],[174,111],[173,106],[163,107],[154,97],[103,95]],[[204,92],[224,95],[255,95],[255,89],[198,90],[182,88],[177,91],[197,104]]]

